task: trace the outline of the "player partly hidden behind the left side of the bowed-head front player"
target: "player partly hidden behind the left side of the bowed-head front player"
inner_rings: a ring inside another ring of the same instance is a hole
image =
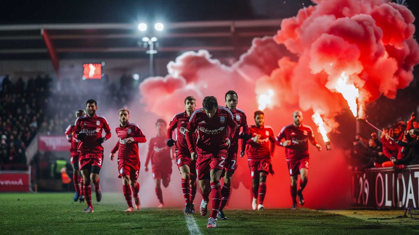
[[[185,213],[194,213],[194,198],[197,193],[197,176],[195,163],[192,161],[191,153],[188,149],[188,144],[186,143],[186,126],[188,125],[189,118],[192,112],[195,111],[196,99],[192,96],[186,97],[185,101],[185,111],[178,113],[173,116],[170,121],[169,128],[167,131],[167,146],[171,147],[175,145],[176,152],[176,164],[178,165],[179,171],[181,172],[181,185],[182,192],[185,198]],[[173,131],[176,130],[177,140],[172,139]],[[197,135],[194,136],[196,140]]]

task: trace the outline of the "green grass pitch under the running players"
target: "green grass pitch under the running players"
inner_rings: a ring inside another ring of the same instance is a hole
[[[0,234],[189,234],[181,209],[142,208],[125,213],[117,193],[104,194],[93,214],[70,193],[0,194]],[[227,221],[207,229],[208,217],[194,214],[203,234],[416,234],[417,226],[386,225],[311,209],[226,210]],[[415,229],[416,228],[416,229]]]

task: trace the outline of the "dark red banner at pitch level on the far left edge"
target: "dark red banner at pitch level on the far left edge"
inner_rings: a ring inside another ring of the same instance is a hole
[[[0,172],[0,192],[29,192],[29,173]]]

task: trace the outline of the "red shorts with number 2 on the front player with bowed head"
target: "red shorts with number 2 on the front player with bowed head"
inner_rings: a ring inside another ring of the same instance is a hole
[[[209,179],[209,172],[212,169],[224,169],[227,159],[227,149],[221,149],[213,153],[197,153],[197,177],[198,180]]]

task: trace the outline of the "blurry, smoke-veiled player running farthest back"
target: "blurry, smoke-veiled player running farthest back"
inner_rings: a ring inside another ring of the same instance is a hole
[[[164,207],[163,193],[160,184],[167,188],[170,183],[170,175],[172,174],[172,159],[170,148],[167,146],[166,139],[167,123],[163,119],[156,122],[157,136],[150,139],[148,143],[147,159],[145,159],[145,171],[148,171],[148,162],[151,159],[151,170],[155,183],[155,193],[160,202],[159,208]]]

